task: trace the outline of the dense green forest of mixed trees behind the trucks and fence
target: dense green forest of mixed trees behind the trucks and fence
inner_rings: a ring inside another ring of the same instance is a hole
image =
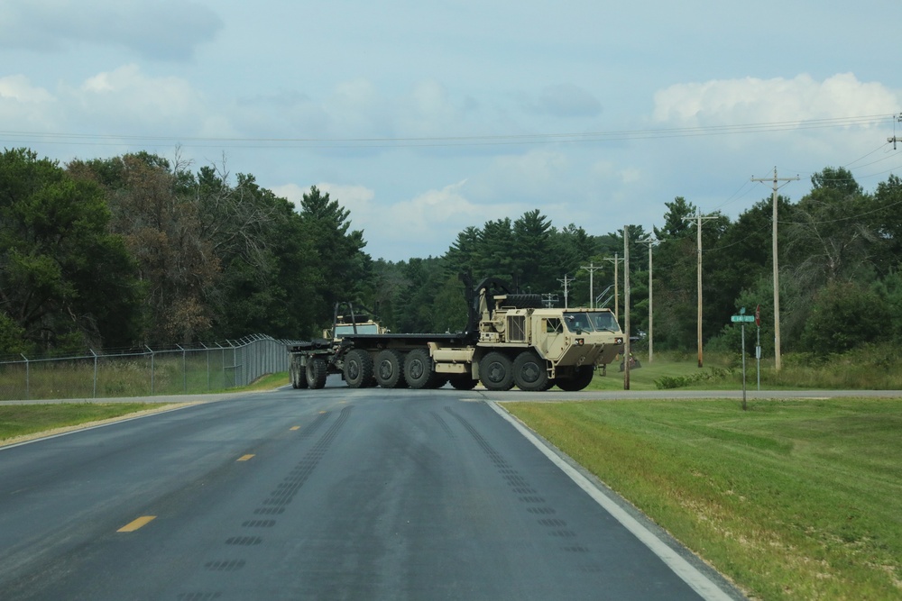
[[[651,298],[656,351],[697,340],[698,208],[665,204],[661,228],[628,226],[630,324]],[[702,220],[705,349],[738,350],[730,317],[760,305],[773,356],[772,200],[733,221]],[[623,321],[623,232],[554,224],[540,209],[467,227],[439,257],[373,259],[341,199],[317,187],[299,207],[225,165],[192,170],[147,152],[65,165],[29,149],[0,155],[0,357],[196,345],[249,333],[298,340],[336,301],[375,311],[394,332],[464,327],[459,275],[497,277],[563,305],[590,296]],[[797,203],[778,196],[783,352],[825,356],[902,341],[902,180],[865,192],[824,168]],[[586,267],[593,267],[591,274]],[[569,281],[572,278],[572,281]],[[592,295],[590,295],[590,278]],[[607,290],[605,294],[602,293]]]

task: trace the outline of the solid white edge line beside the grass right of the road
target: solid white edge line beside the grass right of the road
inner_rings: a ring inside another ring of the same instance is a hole
[[[651,533],[649,529],[640,524],[636,518],[624,511],[610,496],[605,495],[591,480],[585,478],[583,474],[579,473],[573,466],[558,457],[557,453],[548,449],[548,445],[538,440],[535,434],[530,432],[529,429],[515,417],[498,406],[494,401],[486,400],[485,402],[492,407],[495,413],[501,415],[505,420],[510,422],[524,438],[531,442],[539,451],[548,457],[552,463],[569,476],[570,479],[576,483],[576,486],[582,488],[596,503],[598,503],[598,505],[602,505],[606,512],[611,514],[612,517],[620,522],[624,528],[629,530],[633,536],[638,538],[655,555],[664,561],[664,563],[667,564],[667,567],[672,569],[676,576],[682,578],[696,593],[703,596],[707,601],[732,601],[733,597],[727,595],[721,587],[718,587],[713,580],[711,580],[711,578],[705,576],[696,569],[695,566],[680,557],[679,554],[667,546],[667,544],[661,542],[655,534]]]

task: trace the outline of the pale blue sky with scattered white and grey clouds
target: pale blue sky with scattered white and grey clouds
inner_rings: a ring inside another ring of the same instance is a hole
[[[735,219],[826,167],[902,172],[897,0],[3,0],[0,147],[147,150],[294,203],[373,259],[538,209],[603,235]]]

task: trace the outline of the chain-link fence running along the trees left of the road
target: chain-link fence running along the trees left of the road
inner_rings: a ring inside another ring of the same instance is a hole
[[[0,400],[198,394],[287,371],[286,345],[254,334],[213,346],[0,361]]]

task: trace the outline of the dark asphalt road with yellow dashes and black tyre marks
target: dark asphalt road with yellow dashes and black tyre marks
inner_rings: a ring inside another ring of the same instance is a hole
[[[283,390],[0,449],[5,600],[736,595],[477,391]]]

